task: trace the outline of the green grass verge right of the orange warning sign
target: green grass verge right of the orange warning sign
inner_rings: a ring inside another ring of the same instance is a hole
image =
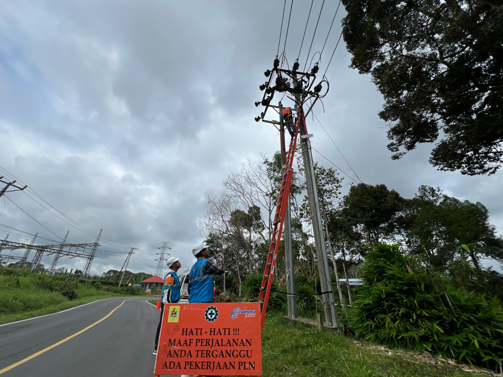
[[[413,361],[416,360],[416,361]],[[280,315],[266,319],[262,334],[264,377],[467,377],[480,375],[450,365],[436,365],[413,352],[387,354],[341,334],[320,333],[301,323],[285,323]]]

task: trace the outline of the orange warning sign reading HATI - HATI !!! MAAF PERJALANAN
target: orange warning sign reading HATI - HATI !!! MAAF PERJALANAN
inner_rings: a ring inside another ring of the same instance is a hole
[[[262,375],[259,303],[166,304],[155,374]]]

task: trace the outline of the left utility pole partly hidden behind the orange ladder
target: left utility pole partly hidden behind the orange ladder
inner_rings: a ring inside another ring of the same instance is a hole
[[[281,114],[283,105],[278,103],[278,110]],[[280,118],[281,120],[281,118]],[[285,168],[285,125],[280,122],[281,139],[281,166]],[[288,318],[297,318],[297,296],[295,296],[295,276],[293,270],[293,250],[292,250],[292,215],[290,208],[290,193],[288,193],[288,204],[285,211],[285,223],[283,226],[283,235],[285,239],[285,266],[286,266],[286,302],[288,306]]]

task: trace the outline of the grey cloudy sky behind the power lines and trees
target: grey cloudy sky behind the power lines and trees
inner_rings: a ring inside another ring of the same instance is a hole
[[[321,50],[337,8],[325,2],[308,56],[321,3],[313,4],[301,68]],[[290,65],[299,54],[309,7],[310,2],[295,2],[291,13]],[[0,2],[0,166],[87,230],[71,227],[28,191],[7,196],[47,229],[4,199],[0,223],[54,240],[69,230],[71,242],[91,242],[103,229],[92,273],[119,269],[131,246],[141,251],[128,269],[153,273],[153,254],[162,241],[170,241],[172,255],[191,265],[207,194],[218,192],[224,176],[247,157],[278,149],[274,127],[253,118],[262,111],[254,102],[262,98],[263,72],[272,68],[278,50],[282,11],[282,1]],[[287,4],[280,52],[288,13]],[[321,72],[344,15],[341,6]],[[382,97],[370,77],[349,63],[341,40],[326,74],[325,112],[318,103],[314,113],[360,179],[384,183],[408,198],[428,184],[480,201],[503,232],[501,173],[436,171],[428,164],[431,145],[392,161],[377,116]],[[351,175],[319,123],[311,118],[307,127],[313,147]],[[317,153],[314,158],[332,166]],[[0,237],[7,233],[11,240],[30,239],[0,226]],[[62,258],[59,265],[81,269],[84,263]]]

